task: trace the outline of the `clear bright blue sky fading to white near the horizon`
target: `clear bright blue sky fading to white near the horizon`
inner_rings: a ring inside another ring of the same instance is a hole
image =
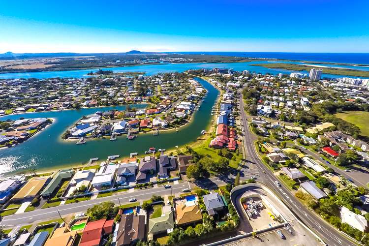
[[[2,0],[0,53],[369,53],[369,0]]]

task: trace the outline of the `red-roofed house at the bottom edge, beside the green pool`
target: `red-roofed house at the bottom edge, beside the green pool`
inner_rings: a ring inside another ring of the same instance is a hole
[[[111,234],[114,220],[100,219],[87,223],[79,246],[99,246],[102,236]]]

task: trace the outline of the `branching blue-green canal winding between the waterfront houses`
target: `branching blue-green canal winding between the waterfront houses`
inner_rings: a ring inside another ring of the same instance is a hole
[[[24,143],[0,150],[0,175],[31,168],[39,170],[81,164],[94,157],[99,157],[102,161],[108,155],[127,156],[133,152],[144,154],[150,147],[171,149],[177,145],[196,141],[201,130],[207,129],[210,124],[212,106],[219,92],[207,81],[200,78],[195,79],[208,90],[200,110],[195,111],[191,123],[181,127],[178,132],[160,132],[158,136],[146,133],[139,134],[134,140],[128,140],[125,136],[117,137],[116,141],[95,139],[82,145],[61,139],[61,135],[67,127],[77,122],[82,116],[93,114],[96,111],[123,110],[124,106],[64,110],[62,112],[37,112],[1,117],[0,120],[44,117],[54,118],[56,121]],[[131,107],[143,108],[145,105],[138,104],[131,105]]]

